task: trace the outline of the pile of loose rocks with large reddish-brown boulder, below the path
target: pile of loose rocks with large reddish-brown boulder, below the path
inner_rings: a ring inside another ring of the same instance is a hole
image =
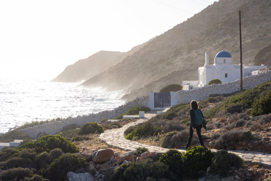
[[[77,156],[83,157],[89,161],[89,170],[95,173],[95,181],[103,181],[106,173],[113,170],[122,164],[128,164],[131,161],[138,161],[147,158],[158,160],[162,153],[145,152],[142,154],[135,154],[133,151],[125,152],[123,154],[114,153],[111,149],[93,150],[93,153],[79,152]]]

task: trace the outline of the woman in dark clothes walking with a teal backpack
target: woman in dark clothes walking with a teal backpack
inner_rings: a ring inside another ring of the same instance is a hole
[[[191,101],[191,110],[189,111],[189,113],[190,113],[190,129],[189,129],[188,142],[186,144],[186,147],[185,146],[182,147],[185,150],[189,148],[191,145],[193,132],[197,132],[198,139],[201,143],[201,146],[204,146],[203,139],[201,137],[201,128],[202,128],[204,117],[201,110],[198,109],[198,103],[195,100]]]

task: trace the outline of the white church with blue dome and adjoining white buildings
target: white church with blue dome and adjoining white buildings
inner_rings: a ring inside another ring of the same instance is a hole
[[[260,69],[266,68],[261,66],[242,65],[243,77],[248,75],[257,75]],[[209,81],[219,79],[221,82],[231,82],[240,78],[240,64],[234,65],[233,58],[229,52],[221,51],[216,54],[213,65],[209,65],[209,54],[205,53],[205,65],[198,68],[198,81],[182,81],[183,90],[196,89],[208,85]]]

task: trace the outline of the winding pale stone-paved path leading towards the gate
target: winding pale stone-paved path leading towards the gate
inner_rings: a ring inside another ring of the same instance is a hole
[[[159,110],[158,110],[159,111]],[[111,129],[107,130],[99,136],[99,138],[102,141],[105,141],[105,143],[111,147],[111,148],[120,148],[125,151],[134,151],[136,148],[139,147],[145,147],[148,148],[150,152],[166,152],[168,149],[167,148],[161,148],[161,147],[156,147],[156,146],[151,146],[151,145],[146,145],[142,144],[136,141],[130,141],[126,140],[123,132],[129,128],[132,125],[137,125],[139,123],[145,122],[151,117],[155,116],[155,111],[151,111],[145,114],[145,118],[139,119],[136,122],[131,122],[128,123],[127,125],[124,125],[122,128],[119,129]],[[179,151],[184,151],[182,149],[179,149]],[[217,151],[216,149],[211,149],[211,151]],[[253,152],[253,151],[228,151],[230,153],[234,153],[239,155],[242,159],[245,161],[252,162],[253,164],[259,164],[268,168],[271,168],[271,154],[266,154],[266,153],[260,153],[260,152]]]

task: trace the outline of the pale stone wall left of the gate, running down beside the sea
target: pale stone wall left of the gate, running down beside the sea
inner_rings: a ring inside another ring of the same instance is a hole
[[[50,135],[54,135],[56,133],[61,132],[62,128],[67,125],[76,124],[77,126],[82,126],[87,122],[100,122],[103,119],[114,119],[120,116],[122,113],[128,111],[129,108],[134,107],[136,105],[147,106],[148,107],[148,96],[137,97],[135,100],[129,101],[128,103],[121,105],[114,110],[109,111],[101,111],[96,114],[88,114],[83,116],[77,116],[74,118],[65,118],[61,121],[48,122],[42,125],[36,125],[33,127],[29,127],[26,129],[20,130],[23,133],[26,133],[30,136],[30,138],[36,138],[37,134],[47,133]]]

